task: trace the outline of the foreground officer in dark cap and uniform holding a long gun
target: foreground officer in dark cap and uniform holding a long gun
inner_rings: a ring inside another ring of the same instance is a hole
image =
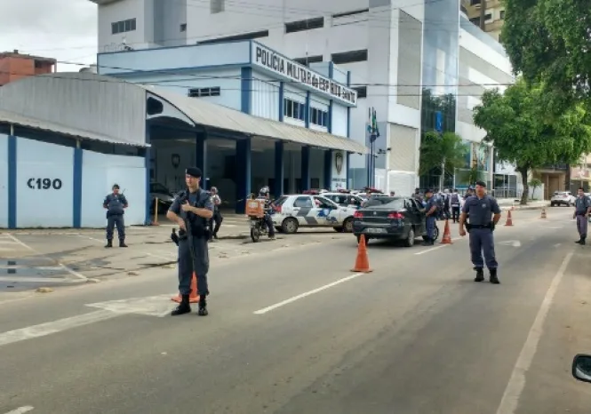
[[[185,171],[187,189],[174,199],[166,217],[179,224],[179,291],[181,301],[172,315],[188,314],[193,272],[197,276],[200,316],[207,312],[207,272],[209,271],[209,221],[213,216],[212,197],[199,187],[203,173],[195,167]]]

